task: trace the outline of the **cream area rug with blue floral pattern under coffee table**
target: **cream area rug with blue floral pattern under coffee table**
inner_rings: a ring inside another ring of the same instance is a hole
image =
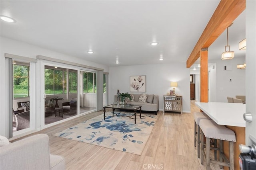
[[[137,113],[136,124],[134,113],[107,112],[104,120],[103,114],[88,121],[84,121],[54,136],[89,143],[100,147],[120,150],[141,155],[148,137],[157,120],[157,115]]]

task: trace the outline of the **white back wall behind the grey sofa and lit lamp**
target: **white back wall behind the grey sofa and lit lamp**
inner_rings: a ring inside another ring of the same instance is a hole
[[[110,104],[114,102],[117,89],[120,92],[130,93],[130,76],[142,75],[146,75],[146,94],[159,96],[160,110],[163,109],[163,96],[172,90],[170,82],[175,81],[178,82],[175,92],[183,96],[183,111],[190,112],[190,69],[186,68],[186,63],[110,67]],[[132,93],[135,94],[135,92]]]

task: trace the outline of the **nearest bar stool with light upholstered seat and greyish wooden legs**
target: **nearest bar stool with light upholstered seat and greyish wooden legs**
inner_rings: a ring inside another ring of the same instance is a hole
[[[204,152],[204,143],[201,143],[201,164],[204,163],[204,156],[206,156],[206,170],[210,170],[210,162],[222,166],[228,166],[230,170],[234,170],[234,142],[236,142],[236,135],[234,131],[228,129],[224,125],[218,125],[213,120],[200,120],[200,136],[201,139],[206,137],[206,154]],[[210,159],[210,139],[218,139],[219,147],[219,161]],[[229,141],[229,160],[223,153],[223,141]],[[224,159],[224,161],[223,161]]]

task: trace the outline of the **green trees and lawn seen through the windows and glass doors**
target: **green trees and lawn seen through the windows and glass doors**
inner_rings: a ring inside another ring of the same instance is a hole
[[[29,96],[29,66],[13,65],[14,98]],[[46,94],[66,94],[66,70],[44,69]],[[96,73],[84,72],[83,92],[96,93]],[[69,93],[77,93],[77,71],[69,71]],[[106,76],[103,74],[103,92],[106,93]]]

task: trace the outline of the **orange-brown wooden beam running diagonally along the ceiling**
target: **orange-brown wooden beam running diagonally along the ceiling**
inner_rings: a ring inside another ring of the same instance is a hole
[[[187,68],[200,57],[200,50],[208,48],[244,11],[246,0],[221,0],[187,60]]]

